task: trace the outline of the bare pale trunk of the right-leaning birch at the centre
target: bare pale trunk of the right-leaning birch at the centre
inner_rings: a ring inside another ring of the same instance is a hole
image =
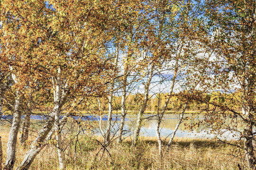
[[[155,67],[155,65],[152,66],[152,68],[149,72],[149,76],[148,76],[147,81],[146,81],[145,92],[144,92],[144,100],[143,100],[143,103],[142,103],[141,108],[139,110],[138,117],[137,117],[137,124],[136,124],[136,128],[135,128],[135,131],[134,131],[132,146],[136,145],[137,139],[138,139],[138,136],[139,136],[139,132],[140,132],[140,128],[142,127],[143,114],[146,110],[146,104],[147,104],[147,101],[148,101],[148,93],[149,93],[149,85],[151,83],[151,79],[152,79],[152,76],[153,76],[154,67]]]

